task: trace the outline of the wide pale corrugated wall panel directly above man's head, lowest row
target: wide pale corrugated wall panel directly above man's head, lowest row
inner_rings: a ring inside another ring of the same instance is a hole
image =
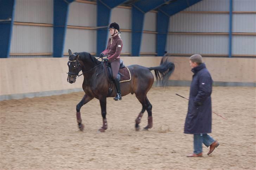
[[[180,54],[228,54],[228,35],[169,34],[166,51]]]

